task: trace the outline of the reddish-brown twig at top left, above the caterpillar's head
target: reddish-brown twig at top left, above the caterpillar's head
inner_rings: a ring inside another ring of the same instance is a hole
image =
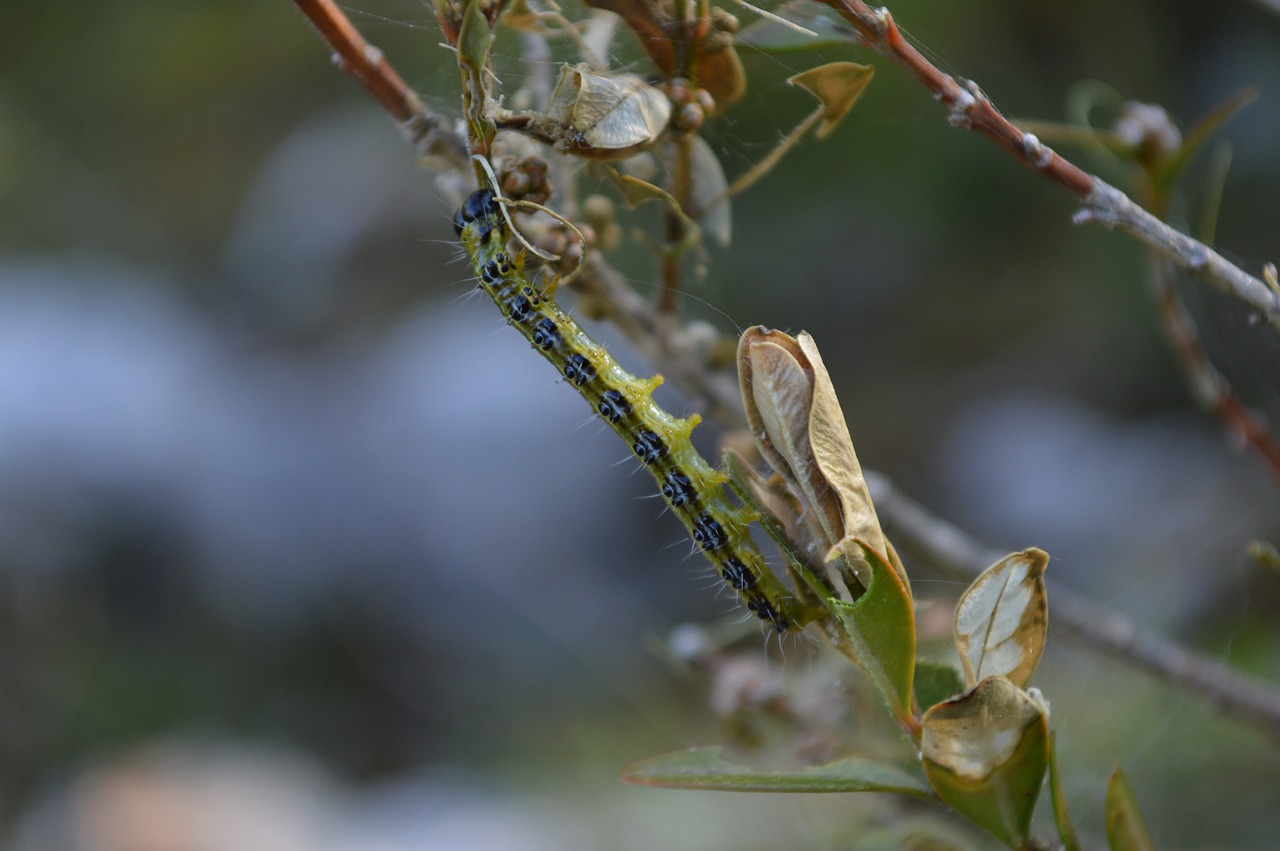
[[[394,118],[419,156],[438,156],[458,170],[470,170],[467,146],[449,122],[426,107],[383,52],[365,41],[333,0],[293,0],[334,51],[334,60],[360,81]]]

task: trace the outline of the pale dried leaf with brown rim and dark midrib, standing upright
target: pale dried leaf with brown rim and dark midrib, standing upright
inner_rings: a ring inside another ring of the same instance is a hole
[[[956,604],[955,641],[965,683],[1007,677],[1025,686],[1044,650],[1048,553],[1027,549],[987,568]]]

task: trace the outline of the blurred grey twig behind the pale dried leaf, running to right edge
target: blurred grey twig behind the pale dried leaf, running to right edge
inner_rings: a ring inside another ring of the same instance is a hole
[[[924,561],[974,577],[1004,558],[968,532],[931,514],[888,479],[872,471],[867,484],[876,511],[893,541]],[[1050,617],[1065,635],[1092,650],[1115,655],[1135,668],[1199,697],[1216,712],[1249,724],[1280,742],[1280,691],[1228,665],[1139,630],[1117,614],[1102,612],[1069,589],[1052,586]]]

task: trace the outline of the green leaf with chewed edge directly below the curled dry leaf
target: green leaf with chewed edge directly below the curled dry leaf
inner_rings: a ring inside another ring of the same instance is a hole
[[[867,591],[852,603],[824,598],[840,622],[854,658],[870,677],[900,719],[911,717],[911,681],[915,674],[915,613],[902,577],[873,546],[846,539],[833,552],[868,569]],[[831,561],[828,558],[828,561]],[[823,586],[804,571],[819,596]]]

